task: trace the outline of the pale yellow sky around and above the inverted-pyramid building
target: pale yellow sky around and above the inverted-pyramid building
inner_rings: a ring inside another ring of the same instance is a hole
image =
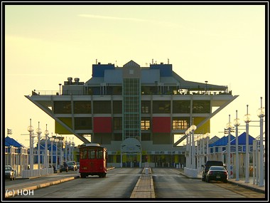
[[[265,10],[263,5],[62,5],[5,6],[5,132],[28,146],[32,119],[43,132],[54,121],[24,95],[57,91],[68,77],[86,82],[92,64],[173,65],[185,80],[228,85],[239,97],[211,119],[211,137],[265,106]],[[259,123],[250,123],[259,125]],[[244,127],[242,127],[244,129]],[[240,133],[245,130],[239,130]],[[249,134],[259,135],[259,127]],[[44,133],[43,133],[44,135]],[[6,136],[6,134],[5,134]],[[63,135],[65,136],[65,135]],[[66,137],[66,136],[65,136]],[[68,138],[72,137],[68,135]],[[75,144],[82,144],[75,139]]]

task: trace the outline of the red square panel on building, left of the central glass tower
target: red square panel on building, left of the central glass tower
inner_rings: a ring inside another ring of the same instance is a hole
[[[94,132],[112,132],[111,117],[95,117]]]

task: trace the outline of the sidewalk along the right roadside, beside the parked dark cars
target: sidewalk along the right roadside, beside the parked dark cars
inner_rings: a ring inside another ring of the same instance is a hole
[[[177,169],[181,175],[185,175],[184,170],[183,169]],[[186,177],[188,177],[188,175],[185,175]],[[190,178],[195,178],[195,179],[202,179],[202,172],[199,172],[197,177],[190,177]],[[259,186],[258,184],[253,184],[253,177],[249,177],[249,183],[245,182],[245,178],[244,177],[239,177],[239,180],[235,180],[234,179],[228,179],[228,183],[231,184],[237,184],[238,186],[241,187],[245,187],[247,189],[252,189],[255,190],[257,192],[261,192],[265,194],[265,179],[264,179],[264,186]]]

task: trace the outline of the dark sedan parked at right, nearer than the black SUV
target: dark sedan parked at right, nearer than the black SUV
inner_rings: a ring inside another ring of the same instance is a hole
[[[211,180],[228,182],[228,172],[224,166],[212,166],[208,170],[205,182],[210,182]]]

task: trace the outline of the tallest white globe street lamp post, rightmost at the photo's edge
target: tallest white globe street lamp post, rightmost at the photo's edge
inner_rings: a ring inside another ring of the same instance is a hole
[[[259,116],[260,122],[260,133],[259,133],[259,187],[264,186],[264,108],[262,108],[262,97],[261,97],[261,108],[258,109],[257,115]]]

